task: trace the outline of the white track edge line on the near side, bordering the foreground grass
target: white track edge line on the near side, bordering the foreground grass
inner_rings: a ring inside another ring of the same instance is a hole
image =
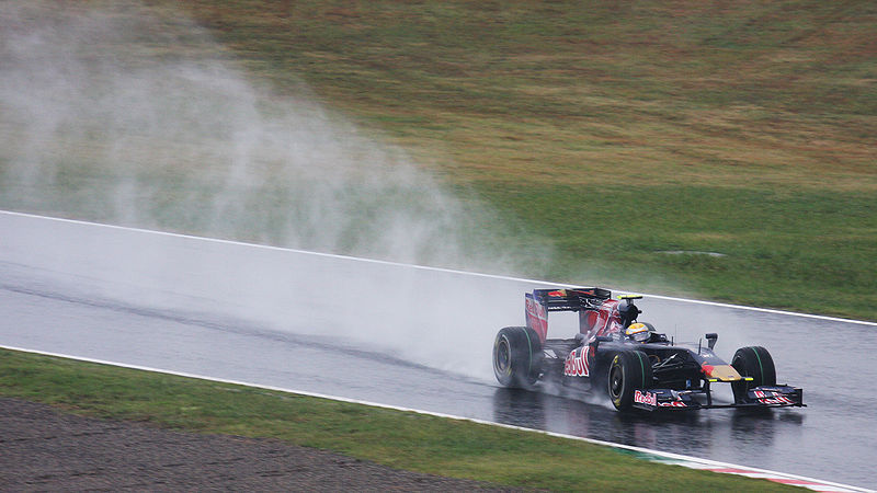
[[[236,385],[236,386],[242,386],[242,387],[250,387],[250,388],[254,388],[254,389],[263,389],[263,390],[271,390],[271,391],[276,391],[276,392],[285,392],[285,393],[294,393],[294,394],[298,394],[298,395],[307,395],[307,397],[312,397],[312,398],[318,398],[318,399],[328,399],[328,400],[338,401],[338,402],[348,402],[348,403],[351,403],[351,404],[368,405],[368,406],[372,406],[372,408],[388,409],[388,410],[401,411],[401,412],[411,412],[411,413],[417,413],[417,414],[422,414],[422,415],[428,415],[428,416],[434,416],[434,417],[442,417],[442,419],[457,420],[457,421],[467,421],[467,422],[470,422],[470,423],[483,424],[483,425],[489,425],[489,426],[498,426],[498,427],[506,428],[506,429],[517,429],[517,431],[522,431],[522,432],[537,433],[537,434],[553,436],[553,437],[557,437],[557,438],[565,438],[565,439],[584,442],[584,443],[594,444],[594,445],[601,445],[601,446],[605,446],[605,447],[620,448],[620,449],[625,449],[625,450],[630,450],[630,451],[636,451],[636,452],[641,452],[641,454],[649,454],[649,455],[663,457],[663,458],[668,458],[668,459],[673,459],[673,460],[680,460],[680,461],[685,461],[685,462],[694,462],[694,463],[704,465],[704,466],[707,466],[707,467],[718,467],[718,468],[727,468],[727,469],[741,469],[741,470],[747,470],[747,471],[751,471],[751,472],[755,472],[755,473],[771,474],[772,477],[775,477],[775,478],[793,479],[793,480],[799,480],[799,481],[807,481],[807,482],[811,482],[811,483],[820,484],[820,485],[840,488],[840,489],[843,489],[843,490],[846,490],[846,491],[872,492],[873,493],[873,490],[868,490],[868,489],[864,489],[864,488],[859,488],[859,486],[852,486],[852,485],[846,485],[846,484],[836,483],[836,482],[832,482],[832,481],[823,481],[823,480],[818,480],[818,479],[813,479],[813,478],[807,478],[807,477],[797,475],[797,474],[789,474],[789,473],[786,473],[786,472],[771,471],[771,470],[767,470],[767,469],[758,469],[758,468],[752,468],[752,467],[749,467],[749,466],[739,466],[739,465],[732,465],[732,463],[728,463],[728,462],[719,462],[719,461],[711,460],[711,459],[701,459],[701,458],[697,458],[697,457],[684,456],[684,455],[681,455],[681,454],[673,454],[673,452],[667,452],[667,451],[661,451],[661,450],[652,450],[652,449],[649,449],[649,448],[636,447],[636,446],[633,446],[633,445],[616,444],[616,443],[613,443],[613,442],[597,440],[597,439],[585,438],[585,437],[581,437],[581,436],[565,435],[565,434],[561,434],[561,433],[546,432],[546,431],[534,429],[534,428],[526,428],[526,427],[523,427],[523,426],[515,426],[515,425],[509,425],[509,424],[503,424],[503,423],[494,423],[494,422],[491,422],[491,421],[479,420],[479,419],[475,419],[475,417],[457,416],[457,415],[454,415],[454,414],[438,413],[438,412],[433,412],[433,411],[423,411],[423,410],[418,410],[418,409],[412,409],[412,408],[405,408],[405,406],[399,406],[399,405],[381,404],[381,403],[378,403],[378,402],[364,401],[364,400],[360,400],[360,399],[350,399],[350,398],[344,398],[344,397],[339,397],[339,395],[330,395],[330,394],[324,394],[324,393],[319,393],[319,392],[310,392],[310,391],[306,391],[306,390],[285,389],[283,387],[266,386],[266,385],[261,385],[261,383],[251,383],[251,382],[246,382],[246,381],[240,381],[240,380],[230,380],[230,379],[225,379],[225,378],[208,377],[208,376],[204,376],[204,375],[190,374],[190,372],[185,372],[185,371],[175,371],[175,370],[168,370],[168,369],[161,369],[161,368],[152,368],[152,367],[141,366],[141,365],[132,365],[132,364],[126,364],[126,363],[110,362],[110,360],[105,360],[105,359],[90,358],[90,357],[86,357],[86,356],[73,356],[73,355],[68,355],[68,354],[64,354],[64,353],[53,353],[53,352],[46,352],[46,351],[39,351],[39,349],[29,349],[29,348],[24,348],[24,347],[7,346],[7,345],[3,345],[3,344],[0,344],[0,348],[10,349],[10,351],[18,351],[18,352],[22,352],[22,353],[38,354],[38,355],[43,355],[43,356],[53,356],[53,357],[67,358],[67,359],[73,359],[73,360],[79,360],[79,362],[86,362],[86,363],[94,363],[94,364],[99,364],[99,365],[115,366],[115,367],[119,367],[119,368],[128,368],[128,369],[141,370],[141,371],[150,371],[150,372],[162,374],[162,375],[172,375],[172,376],[176,376],[176,377],[194,378],[194,379],[198,379],[198,380],[214,381],[214,382],[217,382],[217,383],[229,383],[229,385]],[[739,475],[742,475],[742,474],[739,474]],[[797,484],[795,484],[795,485],[797,485]],[[806,485],[804,485],[804,486],[806,488]]]

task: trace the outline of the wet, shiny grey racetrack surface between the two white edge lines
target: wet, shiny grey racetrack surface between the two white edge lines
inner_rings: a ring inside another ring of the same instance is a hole
[[[493,334],[521,323],[534,284],[14,215],[0,214],[0,230],[5,346],[877,486],[875,326],[643,299],[641,319],[677,341],[718,332],[725,358],[767,347],[808,408],[619,414],[605,399],[492,379]]]

